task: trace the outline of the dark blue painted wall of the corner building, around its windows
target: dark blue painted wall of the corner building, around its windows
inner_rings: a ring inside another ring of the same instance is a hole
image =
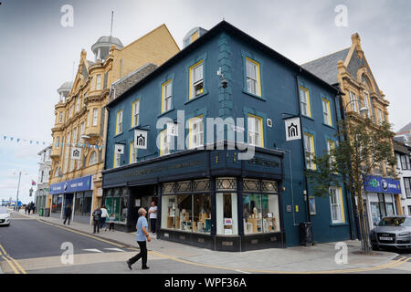
[[[301,149],[301,141],[285,141],[285,126],[281,115],[282,113],[299,114],[296,82],[298,71],[291,69],[278,58],[271,57],[255,47],[248,40],[238,39],[236,36],[228,36],[222,33],[208,40],[201,47],[196,47],[195,50],[180,58],[174,65],[166,68],[160,74],[153,73],[153,78],[140,89],[126,93],[121,97],[120,102],[112,104],[108,125],[106,169],[113,166],[114,143],[116,142],[122,142],[126,145],[125,154],[121,158],[121,165],[129,163],[129,145],[133,141],[133,130],[130,127],[132,101],[137,98],[141,99],[140,124],[149,125],[150,129],[148,149],[138,151],[140,160],[159,155],[155,140],[160,130],[156,129],[156,121],[163,116],[175,120],[177,117],[176,110],[184,110],[186,120],[198,114],[204,114],[204,118],[233,117],[234,119],[245,117],[248,113],[258,115],[264,119],[265,147],[286,150],[284,159],[285,179],[281,184],[285,188],[282,193],[283,219],[287,245],[299,245],[298,224],[308,219],[307,203],[303,196],[303,191],[307,189],[303,175],[305,160]],[[260,64],[262,98],[245,93],[245,56],[257,60]],[[189,67],[200,58],[205,59],[205,95],[187,102]],[[220,77],[216,75],[218,68],[222,69],[228,80],[227,89],[221,88]],[[168,78],[174,79],[174,110],[161,115],[161,85]],[[334,105],[335,92],[304,74],[300,74],[299,82],[301,86],[310,90],[311,97],[311,118],[302,118],[302,128],[314,135],[315,151],[317,155],[320,155],[327,149],[326,139],[332,138],[335,140],[335,125],[337,120],[340,119],[338,105],[337,110],[335,110]],[[334,127],[324,125],[322,122],[321,97],[325,97],[331,102],[332,124]],[[116,112],[118,110],[123,110],[123,133],[114,136]],[[267,127],[267,119],[273,121],[272,128]],[[245,128],[247,132],[247,122]],[[187,130],[185,130],[185,134],[188,134]],[[310,193],[310,188],[308,191]],[[350,238],[348,225],[350,204],[346,202],[344,195],[343,198],[346,224],[340,225],[331,224],[329,197],[316,198],[317,214],[311,216],[314,241],[330,242]],[[294,205],[293,212],[286,212],[287,205]],[[298,212],[296,212],[296,206],[298,206]]]

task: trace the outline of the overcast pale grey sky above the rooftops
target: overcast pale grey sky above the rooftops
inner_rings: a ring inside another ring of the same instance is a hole
[[[1,0],[0,5],[0,200],[29,201],[37,181],[37,152],[51,142],[58,87],[73,78],[81,48],[110,35],[124,45],[165,24],[182,47],[195,26],[209,29],[223,18],[301,64],[351,46],[358,32],[378,86],[390,101],[390,121],[399,130],[410,119],[411,1],[197,1],[197,0]],[[60,25],[62,5],[72,5],[74,24]],[[348,26],[335,26],[337,5],[348,8]],[[7,139],[4,140],[4,136]],[[14,137],[10,141],[8,137]],[[16,142],[16,138],[27,141]],[[30,144],[29,141],[39,141]],[[36,189],[36,188],[35,188]]]

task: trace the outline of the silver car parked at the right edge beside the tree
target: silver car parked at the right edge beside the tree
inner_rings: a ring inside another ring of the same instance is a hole
[[[370,242],[374,250],[388,246],[411,249],[411,216],[384,217],[371,231]]]

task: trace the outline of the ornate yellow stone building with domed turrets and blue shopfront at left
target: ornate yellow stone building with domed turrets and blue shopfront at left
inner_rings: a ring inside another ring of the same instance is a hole
[[[84,223],[90,223],[91,210],[101,206],[107,123],[104,107],[109,99],[115,99],[116,89],[121,91],[111,84],[121,83],[130,74],[142,78],[152,66],[163,64],[180,51],[165,25],[125,47],[117,37],[101,36],[91,50],[93,60],[81,50],[74,81],[58,89],[60,97],[51,130],[51,196],[47,203],[56,217],[62,217],[70,204],[73,220]]]

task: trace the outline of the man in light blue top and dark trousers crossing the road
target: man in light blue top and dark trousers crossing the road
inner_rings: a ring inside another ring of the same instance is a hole
[[[132,265],[137,262],[140,258],[142,258],[142,270],[149,269],[150,267],[147,266],[147,241],[150,242],[152,239],[147,232],[147,219],[145,215],[147,211],[144,208],[139,209],[139,220],[137,221],[137,244],[140,246],[140,253],[138,255],[133,256],[129,259],[126,263],[127,266],[132,269]]]

